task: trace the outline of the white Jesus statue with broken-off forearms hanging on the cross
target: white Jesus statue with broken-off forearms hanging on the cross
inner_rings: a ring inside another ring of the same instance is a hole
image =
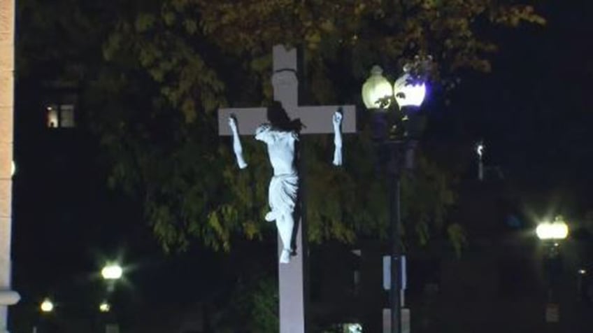
[[[332,117],[334,125],[334,160],[333,164],[342,164],[341,122],[343,115],[340,110]],[[290,257],[296,255],[292,245],[292,234],[295,221],[295,208],[299,192],[299,171],[296,167],[296,142],[299,141],[299,129],[287,125],[288,122],[274,122],[259,125],[255,130],[255,139],[266,143],[268,157],[273,168],[268,192],[270,211],[265,220],[276,221],[278,234],[283,243],[280,263],[287,264]],[[243,158],[243,148],[239,139],[237,121],[229,117],[229,127],[233,135],[233,150],[239,168],[245,169],[247,163]]]

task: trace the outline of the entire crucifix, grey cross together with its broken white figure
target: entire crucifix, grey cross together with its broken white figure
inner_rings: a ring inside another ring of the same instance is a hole
[[[342,164],[341,133],[356,132],[355,106],[299,106],[296,50],[273,47],[271,108],[223,108],[218,111],[218,132],[233,136],[238,166],[243,159],[239,135],[255,134],[266,143],[274,175],[269,188],[271,211],[264,217],[278,227],[278,280],[280,333],[306,332],[306,239],[303,239],[299,170],[295,164],[300,134],[334,134],[334,165]]]

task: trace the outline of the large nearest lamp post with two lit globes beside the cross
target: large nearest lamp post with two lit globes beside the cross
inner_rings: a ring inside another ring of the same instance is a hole
[[[407,150],[413,146],[410,145],[410,139],[413,139],[413,132],[417,129],[417,109],[426,94],[426,85],[410,69],[410,66],[404,66],[403,75],[392,87],[383,76],[383,70],[379,66],[373,66],[371,76],[362,86],[364,105],[373,111],[373,140],[378,143],[379,160],[387,166],[390,178],[391,333],[401,333],[399,225],[402,149]],[[390,114],[389,111],[393,112]]]

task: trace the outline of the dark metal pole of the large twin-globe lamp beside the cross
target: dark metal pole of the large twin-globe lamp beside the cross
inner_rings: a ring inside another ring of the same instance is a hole
[[[400,166],[397,143],[391,143],[392,166],[390,167],[390,226],[391,226],[391,333],[401,333],[399,223],[400,215]]]

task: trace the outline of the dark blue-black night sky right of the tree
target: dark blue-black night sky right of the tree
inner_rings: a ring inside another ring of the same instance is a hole
[[[593,6],[548,2],[545,27],[496,34],[501,51],[493,73],[463,80],[439,117],[454,115],[443,122],[484,139],[486,162],[501,166],[516,186],[591,209]]]

